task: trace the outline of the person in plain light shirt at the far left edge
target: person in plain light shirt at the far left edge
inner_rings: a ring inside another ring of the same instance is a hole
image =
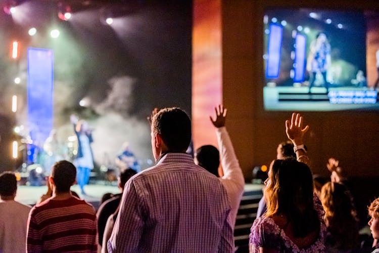
[[[0,252],[25,252],[26,224],[31,207],[15,201],[16,192],[15,174],[0,174]]]

